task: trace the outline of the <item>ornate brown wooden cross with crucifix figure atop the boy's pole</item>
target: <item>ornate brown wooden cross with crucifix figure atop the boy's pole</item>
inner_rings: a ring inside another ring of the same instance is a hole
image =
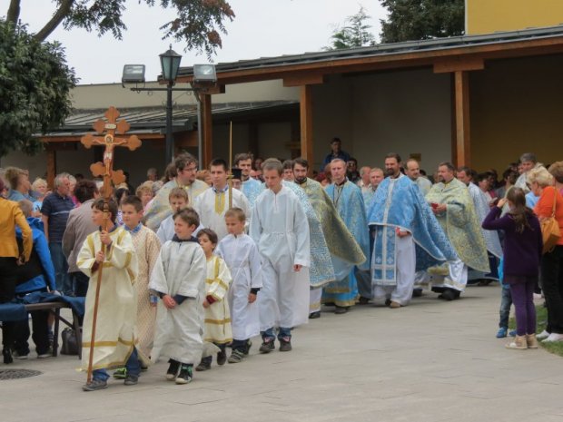
[[[110,107],[104,115],[107,122],[104,119],[99,119],[94,123],[94,130],[96,133],[106,133],[103,136],[94,136],[94,134],[88,133],[82,137],[80,142],[86,148],[92,148],[93,145],[105,146],[104,162],[95,162],[90,166],[90,170],[95,177],[104,177],[102,195],[109,199],[112,195],[112,182],[114,182],[114,185],[125,182],[123,171],[114,170],[114,148],[123,146],[129,148],[130,151],[134,151],[141,146],[141,140],[137,135],[127,137],[115,135],[116,133],[123,135],[131,128],[131,125],[124,119],[117,122],[119,111],[115,107]]]

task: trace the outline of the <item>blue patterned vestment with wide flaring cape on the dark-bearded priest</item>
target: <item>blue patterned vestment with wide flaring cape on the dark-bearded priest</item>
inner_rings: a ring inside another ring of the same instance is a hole
[[[415,242],[416,270],[457,258],[446,233],[434,217],[420,188],[406,176],[380,183],[368,212],[375,228],[371,280],[380,286],[397,284],[396,230],[409,231]]]

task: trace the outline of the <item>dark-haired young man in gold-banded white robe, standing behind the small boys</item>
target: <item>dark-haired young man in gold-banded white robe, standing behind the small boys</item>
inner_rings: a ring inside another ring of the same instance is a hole
[[[244,211],[247,219],[251,216],[251,206],[242,191],[229,190],[227,184],[227,163],[220,159],[214,159],[210,164],[212,175],[212,187],[198,196],[193,208],[200,215],[203,227],[217,233],[219,240],[227,235],[225,224],[225,212],[229,209],[229,196],[232,194],[232,207]]]

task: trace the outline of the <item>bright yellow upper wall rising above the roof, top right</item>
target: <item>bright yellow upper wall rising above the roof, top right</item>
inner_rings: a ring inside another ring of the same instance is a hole
[[[469,35],[562,24],[562,0],[466,0]]]

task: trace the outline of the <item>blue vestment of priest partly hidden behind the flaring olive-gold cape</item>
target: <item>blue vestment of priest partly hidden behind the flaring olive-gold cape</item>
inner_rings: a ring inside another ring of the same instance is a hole
[[[341,187],[332,183],[327,186],[326,191],[341,215],[342,221],[360,245],[363,254],[369,256],[370,233],[361,189],[354,183],[346,181]],[[341,307],[354,305],[358,298],[358,282],[354,276],[353,266],[336,257],[332,257],[332,266],[336,281],[327,285],[322,291],[322,303],[334,303]],[[368,270],[369,261],[364,261],[358,268]]]

